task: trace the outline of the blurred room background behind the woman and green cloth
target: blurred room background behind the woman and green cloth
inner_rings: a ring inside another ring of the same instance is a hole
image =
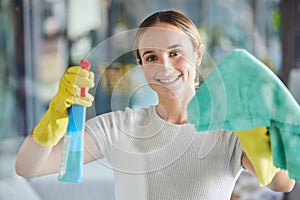
[[[139,23],[164,9],[182,11],[194,21],[210,63],[245,48],[300,102],[300,0],[0,0],[0,200],[114,199],[113,174],[103,163],[87,165],[84,182],[74,185],[59,183],[57,175],[18,177],[15,156],[66,68],[82,58],[97,73],[95,105],[87,118],[155,104],[131,45]],[[289,194],[274,193],[242,174],[232,199],[299,195],[298,184]]]

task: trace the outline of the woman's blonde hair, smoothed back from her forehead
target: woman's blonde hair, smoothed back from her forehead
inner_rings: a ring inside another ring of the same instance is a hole
[[[138,49],[140,39],[147,28],[153,26],[157,22],[165,22],[177,27],[191,38],[195,48],[198,48],[202,44],[196,25],[187,16],[175,10],[159,11],[147,17],[140,24],[136,32],[133,53],[135,58],[140,62],[139,64],[141,64],[141,56]]]

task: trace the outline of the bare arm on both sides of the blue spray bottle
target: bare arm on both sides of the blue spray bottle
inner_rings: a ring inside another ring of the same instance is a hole
[[[101,153],[92,138],[85,133],[84,162],[88,163],[100,157]],[[25,138],[16,160],[16,173],[33,178],[59,172],[63,138],[53,147],[37,144],[32,132]]]

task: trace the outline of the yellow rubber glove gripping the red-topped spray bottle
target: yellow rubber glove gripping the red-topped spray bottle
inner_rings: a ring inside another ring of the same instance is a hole
[[[92,106],[94,97],[87,93],[80,96],[80,88],[94,87],[94,73],[74,66],[67,69],[60,80],[56,95],[50,101],[49,109],[33,129],[33,139],[43,146],[54,146],[67,130],[68,108],[72,104]]]

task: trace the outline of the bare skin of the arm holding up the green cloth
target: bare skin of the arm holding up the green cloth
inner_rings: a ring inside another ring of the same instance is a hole
[[[245,154],[242,157],[242,164],[245,169],[255,175],[254,167]],[[285,170],[280,170],[276,173],[268,187],[276,192],[290,192],[294,188],[294,185],[295,180],[290,179],[288,172]]]

